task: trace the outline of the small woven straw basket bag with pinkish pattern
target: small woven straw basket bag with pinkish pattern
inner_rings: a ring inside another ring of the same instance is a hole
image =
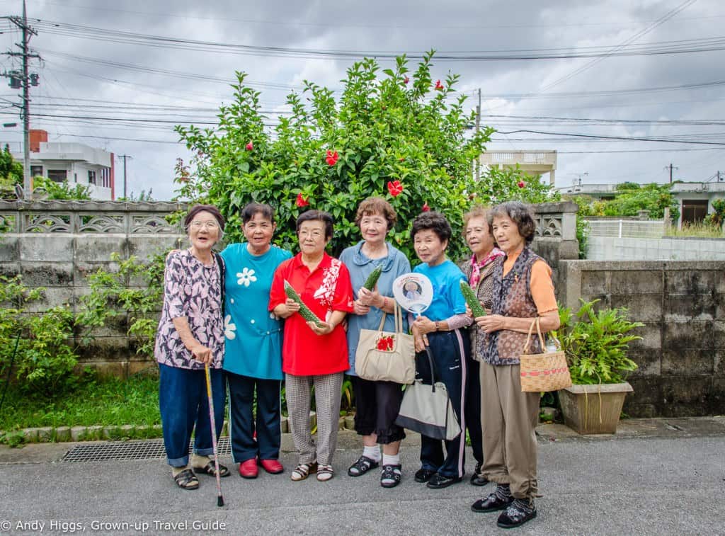
[[[539,342],[541,342],[541,354],[530,354],[529,344],[531,343],[531,333],[537,326],[537,334]],[[544,336],[539,325],[539,318],[531,322],[529,335],[526,337],[526,345],[523,347],[521,354],[521,391],[522,392],[547,392],[558,391],[565,387],[571,387],[571,374],[566,364],[566,354],[561,350],[558,339],[553,335],[549,335],[558,348],[556,352],[547,352],[544,345]]]

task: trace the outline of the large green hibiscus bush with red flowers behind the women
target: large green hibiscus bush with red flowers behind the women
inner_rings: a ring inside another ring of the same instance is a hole
[[[493,129],[473,129],[465,96],[449,98],[458,75],[433,80],[433,55],[426,54],[414,72],[405,56],[384,70],[374,59],[355,62],[339,99],[306,81],[301,94],[287,97],[289,114],[273,127],[260,111],[260,92],[236,73],[233,102],[220,107],[217,128],[176,128],[195,154],[188,164],[178,161],[178,193],[217,205],[228,218],[230,242],[241,242],[244,205],[272,205],[276,242],[291,250],[297,216],[326,210],[335,220],[334,255],[360,239],[357,205],[372,195],[386,197],[399,219],[389,238],[410,258],[410,224],[423,210],[444,213],[460,236],[463,213],[474,201],[546,199],[550,189],[520,170],[486,171],[473,180],[473,162]],[[451,246],[456,257],[463,243],[456,239]]]

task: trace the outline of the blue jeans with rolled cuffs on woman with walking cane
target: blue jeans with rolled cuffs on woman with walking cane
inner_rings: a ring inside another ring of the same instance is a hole
[[[224,424],[224,371],[210,369],[217,437]],[[170,466],[188,464],[188,443],[194,430],[194,452],[212,455],[212,424],[204,369],[191,370],[159,363],[159,410],[166,458]]]

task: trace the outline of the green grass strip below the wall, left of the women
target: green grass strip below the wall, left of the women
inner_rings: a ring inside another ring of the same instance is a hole
[[[161,424],[159,380],[152,376],[94,379],[57,400],[8,389],[0,430],[41,426],[135,426]]]

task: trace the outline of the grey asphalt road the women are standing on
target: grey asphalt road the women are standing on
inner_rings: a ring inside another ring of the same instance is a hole
[[[725,535],[725,434],[700,437],[587,438],[539,443],[539,516],[520,534]],[[463,483],[429,490],[413,481],[418,447],[402,448],[403,481],[392,490],[378,472],[347,477],[360,450],[341,432],[329,482],[291,482],[284,474],[255,480],[236,471],[215,481],[200,476],[180,490],[163,460],[63,463],[64,445],[30,445],[0,453],[0,532],[11,534],[331,534],[473,535],[501,532],[497,514],[471,503],[493,485]],[[26,450],[27,449],[27,450]],[[468,468],[473,467],[468,451]],[[223,463],[231,460],[223,459]],[[42,524],[42,527],[41,527]]]

